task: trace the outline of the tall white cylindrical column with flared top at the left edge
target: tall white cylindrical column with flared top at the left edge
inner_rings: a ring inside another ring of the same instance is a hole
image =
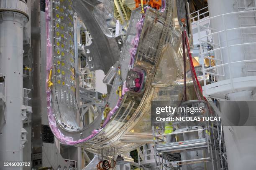
[[[0,130],[0,163],[22,162],[23,27],[28,22],[25,0],[0,0],[0,75],[5,85],[5,124]],[[1,113],[2,114],[2,113]],[[24,136],[25,135],[25,136]],[[3,165],[0,165],[2,169]],[[3,167],[2,170],[5,170]],[[6,168],[10,169],[10,168]],[[22,168],[11,168],[22,169]]]

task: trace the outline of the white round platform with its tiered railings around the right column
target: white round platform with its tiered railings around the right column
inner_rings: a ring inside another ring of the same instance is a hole
[[[222,25],[225,26],[225,20],[232,17],[237,17],[238,14],[250,14],[255,13],[255,11],[241,11],[241,12],[234,12],[228,13],[223,15],[218,15],[212,18],[208,18],[209,22],[212,20],[220,20]],[[225,27],[221,30],[212,28],[212,27],[205,27],[204,25],[200,25],[205,20],[199,21],[196,23],[198,32],[199,32],[199,42],[200,42],[200,57],[204,59],[210,59],[215,61],[215,66],[203,67],[203,74],[210,74],[212,76],[216,76],[218,82],[212,83],[207,85],[206,81],[204,82],[204,95],[214,95],[216,93],[222,93],[227,90],[235,90],[235,89],[243,89],[247,87],[255,87],[256,83],[256,76],[249,75],[248,72],[253,72],[253,70],[246,70],[243,73],[244,68],[248,68],[246,63],[255,63],[255,59],[247,59],[244,57],[243,48],[242,47],[252,47],[252,45],[256,45],[256,39],[253,42],[233,42],[233,40],[229,40],[230,36],[233,35],[233,31],[241,31],[241,30],[249,30],[255,29],[256,26],[246,26],[246,27]],[[211,30],[212,33],[200,36],[200,31],[202,30]],[[224,36],[223,36],[224,35]],[[205,37],[215,37],[214,42],[206,42]],[[224,38],[223,38],[224,37]],[[214,47],[214,49],[204,52],[202,49],[202,43],[208,43]],[[234,50],[236,49],[236,50]],[[242,53],[237,50],[242,50]],[[215,52],[216,57],[211,58],[208,56],[210,52]],[[238,52],[238,53],[237,53]],[[239,58],[237,59],[234,56],[239,54]],[[255,63],[256,66],[256,63]],[[217,72],[216,72],[217,70]],[[243,73],[243,74],[242,74]],[[225,99],[224,96],[221,98]]]

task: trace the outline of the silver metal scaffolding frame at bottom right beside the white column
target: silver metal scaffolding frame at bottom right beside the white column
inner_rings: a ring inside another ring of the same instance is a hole
[[[189,101],[191,106],[197,105],[197,100]],[[214,114],[217,115],[214,111]],[[225,153],[225,143],[223,142],[223,129],[220,122],[200,122],[202,126],[187,126],[176,130],[172,133],[164,134],[163,122],[159,125],[155,123],[152,126],[154,136],[154,157],[157,170],[172,170],[179,168],[182,165],[212,162],[213,170],[227,170],[227,163],[223,160],[223,153]],[[184,122],[173,122],[173,124],[180,124]],[[182,140],[176,142],[168,142],[167,136],[184,135],[189,133],[203,134],[198,139]],[[203,136],[205,136],[203,138]],[[217,139],[217,140],[216,140]],[[189,160],[181,160],[179,154],[187,151],[198,151],[206,149],[209,156],[205,158],[195,158]],[[220,163],[220,166],[217,165]]]

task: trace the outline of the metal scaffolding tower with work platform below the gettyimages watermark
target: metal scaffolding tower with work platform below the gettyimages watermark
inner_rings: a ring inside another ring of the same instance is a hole
[[[182,103],[181,107],[198,107],[200,103],[202,101],[190,100]],[[208,112],[209,110],[207,110],[207,116]],[[200,116],[200,114],[195,113],[193,116]],[[176,116],[188,116],[188,114],[181,112]],[[165,123],[155,122],[152,126],[156,170],[177,170],[182,166],[198,163],[207,163],[212,170],[227,169],[226,161],[223,160],[225,144],[223,143],[221,122],[172,121],[173,126],[179,128],[167,134],[164,133]],[[169,140],[168,136],[172,136],[172,140]],[[195,138],[195,136],[197,137]],[[199,155],[201,152],[201,156],[203,156],[185,159],[188,158],[186,154],[191,151],[196,151],[196,154]]]

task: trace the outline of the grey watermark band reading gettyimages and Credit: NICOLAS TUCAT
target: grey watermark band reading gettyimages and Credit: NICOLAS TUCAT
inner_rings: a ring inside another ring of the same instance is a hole
[[[256,126],[255,101],[218,101],[215,103],[218,111],[212,108],[211,114],[205,102],[193,100],[184,103],[177,106],[168,101],[152,101],[151,125],[166,121],[187,122],[191,125],[221,121],[224,126]]]

